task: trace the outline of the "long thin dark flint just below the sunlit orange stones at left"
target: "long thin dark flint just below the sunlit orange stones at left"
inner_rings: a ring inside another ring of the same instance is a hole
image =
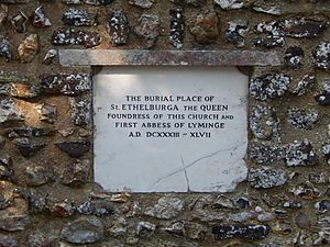
[[[6,128],[6,135],[9,138],[52,136],[54,134],[55,134],[54,130],[47,127],[38,128],[38,127],[23,126],[23,127]]]

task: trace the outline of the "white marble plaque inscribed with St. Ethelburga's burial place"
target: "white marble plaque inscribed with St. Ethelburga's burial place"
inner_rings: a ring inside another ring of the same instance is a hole
[[[109,67],[94,78],[95,180],[110,192],[228,192],[245,180],[248,76]]]

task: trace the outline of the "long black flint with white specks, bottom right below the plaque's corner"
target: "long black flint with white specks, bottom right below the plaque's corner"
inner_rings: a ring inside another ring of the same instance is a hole
[[[263,239],[267,237],[271,227],[267,225],[220,225],[213,226],[212,233],[216,238],[248,238],[248,239]]]

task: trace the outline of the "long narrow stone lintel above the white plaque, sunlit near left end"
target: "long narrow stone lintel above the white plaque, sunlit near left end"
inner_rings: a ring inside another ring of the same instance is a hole
[[[280,66],[275,52],[59,49],[59,63],[70,66]]]

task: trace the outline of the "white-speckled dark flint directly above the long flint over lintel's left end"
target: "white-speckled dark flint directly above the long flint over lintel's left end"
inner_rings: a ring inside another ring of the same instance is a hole
[[[92,21],[86,10],[70,8],[63,13],[62,21],[67,25],[89,26]]]

